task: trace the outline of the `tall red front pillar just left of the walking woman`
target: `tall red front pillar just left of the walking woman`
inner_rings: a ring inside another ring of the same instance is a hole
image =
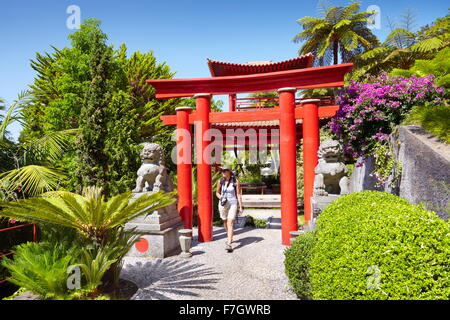
[[[205,139],[210,128],[211,95],[199,93],[194,96],[197,120],[195,121],[195,140],[197,155],[197,196],[198,196],[198,241],[212,241],[212,182],[210,155],[204,150],[210,143]]]

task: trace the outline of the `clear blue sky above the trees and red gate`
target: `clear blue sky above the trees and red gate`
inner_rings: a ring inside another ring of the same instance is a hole
[[[11,102],[32,83],[29,60],[36,52],[69,45],[74,30],[66,27],[66,9],[72,4],[80,7],[82,19],[102,21],[110,43],[124,42],[129,52],[153,50],[177,78],[209,76],[206,58],[238,63],[293,58],[299,45],[291,39],[300,31],[295,21],[318,16],[316,0],[0,0],[0,97]],[[382,28],[374,30],[380,40],[389,32],[387,16],[400,18],[411,9],[418,28],[450,7],[446,0],[373,0],[363,1],[361,9],[369,5],[381,9]],[[17,136],[19,128],[12,131]]]

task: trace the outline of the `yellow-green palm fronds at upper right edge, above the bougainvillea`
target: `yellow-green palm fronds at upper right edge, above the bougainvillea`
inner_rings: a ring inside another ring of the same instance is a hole
[[[450,15],[437,19],[431,27],[426,26],[419,32],[413,32],[411,19],[411,15],[406,14],[399,27],[389,21],[391,32],[381,46],[356,59],[352,80],[390,72],[394,68],[407,70],[416,60],[432,59],[439,50],[450,45]]]

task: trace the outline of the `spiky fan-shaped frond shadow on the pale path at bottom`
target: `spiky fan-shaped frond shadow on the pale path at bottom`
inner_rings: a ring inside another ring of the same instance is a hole
[[[127,264],[121,278],[134,282],[139,290],[135,300],[172,300],[169,295],[195,298],[194,289],[215,290],[212,284],[219,281],[220,273],[204,264],[190,261],[156,259],[146,263]]]

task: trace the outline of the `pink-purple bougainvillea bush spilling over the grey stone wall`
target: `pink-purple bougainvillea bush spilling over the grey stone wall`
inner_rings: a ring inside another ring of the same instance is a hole
[[[329,127],[347,154],[367,157],[414,105],[438,104],[443,96],[444,89],[434,84],[433,75],[403,78],[382,73],[368,83],[352,82],[340,91],[340,107]]]

